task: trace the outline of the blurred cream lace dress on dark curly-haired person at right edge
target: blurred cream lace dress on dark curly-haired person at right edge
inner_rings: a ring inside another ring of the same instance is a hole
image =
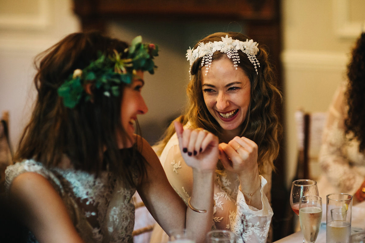
[[[318,180],[318,191],[322,198],[333,192],[354,195],[365,180],[364,153],[359,153],[357,140],[350,141],[349,136],[345,135],[344,121],[348,109],[345,91],[344,83],[335,92],[323,130],[319,153],[322,175]]]

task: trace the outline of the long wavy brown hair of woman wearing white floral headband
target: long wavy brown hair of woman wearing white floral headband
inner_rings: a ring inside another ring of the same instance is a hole
[[[199,42],[221,41],[222,37],[232,37],[234,40],[246,41],[246,35],[238,32],[217,32],[208,35]],[[199,43],[198,42],[198,43]],[[194,48],[198,46],[198,43]],[[247,137],[258,145],[258,168],[262,173],[264,166],[269,164],[274,169],[273,161],[278,156],[279,142],[278,137],[281,135],[281,126],[278,122],[275,109],[277,102],[281,102],[281,93],[276,87],[273,68],[269,63],[268,51],[263,45],[259,45],[259,52],[256,58],[260,62],[258,74],[254,65],[247,58],[247,55],[238,51],[240,62],[238,66],[245,71],[251,83],[251,101],[247,117],[241,125],[240,137]],[[226,56],[225,53],[216,51],[212,56],[212,61]],[[191,67],[191,80],[187,87],[188,105],[183,115],[177,118],[178,121],[186,124],[191,122],[194,128],[204,128],[215,134],[221,139],[222,128],[214,117],[210,114],[205,106],[202,91],[202,72],[201,58],[198,58]],[[231,59],[230,59],[231,60]],[[232,61],[232,60],[231,60]],[[157,154],[161,154],[166,143],[174,134],[173,124],[169,126],[164,134],[164,138],[156,145]],[[218,165],[218,170],[223,169]]]

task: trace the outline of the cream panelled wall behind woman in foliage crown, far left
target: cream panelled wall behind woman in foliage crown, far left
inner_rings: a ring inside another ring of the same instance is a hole
[[[0,1],[0,112],[9,111],[13,148],[35,97],[35,55],[80,30],[71,9],[72,0]]]

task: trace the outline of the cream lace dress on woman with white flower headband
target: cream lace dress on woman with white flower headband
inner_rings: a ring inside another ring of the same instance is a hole
[[[160,161],[170,184],[187,204],[189,195],[192,192],[193,173],[181,156],[176,133],[166,144],[160,156]],[[270,169],[268,171],[271,172]],[[271,174],[268,173],[268,175],[271,179]],[[239,236],[239,243],[266,242],[273,211],[265,195],[265,193],[270,194],[270,187],[267,187],[267,181],[263,176],[260,175],[260,179],[262,209],[258,210],[247,205],[243,193],[238,189],[237,174],[226,172],[224,175],[216,175],[213,229],[220,228],[235,232]],[[160,236],[161,239],[155,238],[158,234],[166,233],[156,225],[152,233],[151,243],[165,239],[164,236]]]

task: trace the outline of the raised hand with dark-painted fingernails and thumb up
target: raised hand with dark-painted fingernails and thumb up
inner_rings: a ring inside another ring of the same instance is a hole
[[[183,128],[174,122],[181,155],[187,165],[198,171],[215,171],[218,162],[218,137],[202,128]]]

